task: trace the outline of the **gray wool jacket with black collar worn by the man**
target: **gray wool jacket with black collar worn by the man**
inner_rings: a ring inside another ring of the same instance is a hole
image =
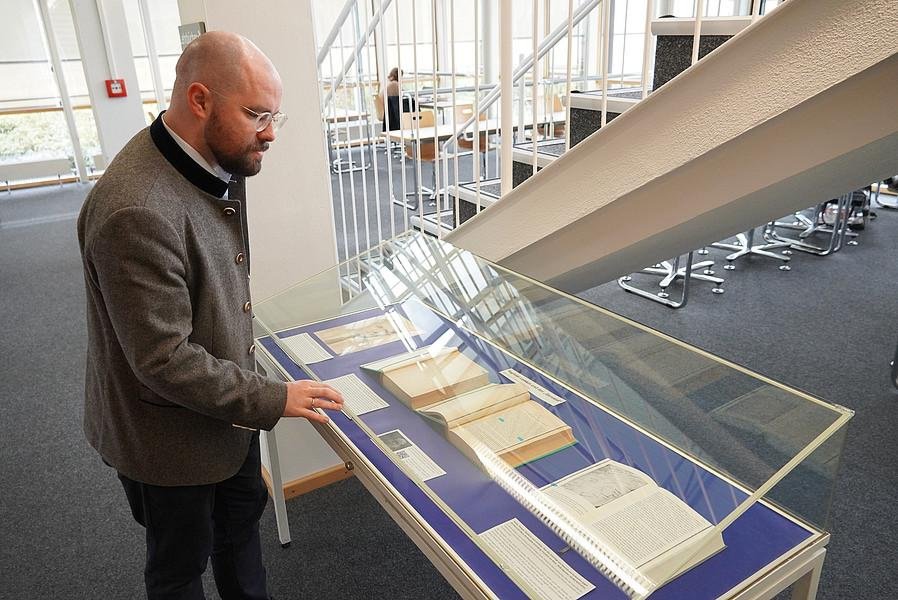
[[[87,287],[84,431],[154,485],[227,479],[286,384],[253,371],[245,210],[161,115],[111,162],[78,218]],[[240,425],[242,427],[235,427]]]

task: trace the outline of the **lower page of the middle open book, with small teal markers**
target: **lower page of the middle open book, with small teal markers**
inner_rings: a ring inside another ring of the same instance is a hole
[[[509,448],[565,427],[564,421],[528,400],[452,431],[465,442],[479,440],[496,454],[501,454]]]

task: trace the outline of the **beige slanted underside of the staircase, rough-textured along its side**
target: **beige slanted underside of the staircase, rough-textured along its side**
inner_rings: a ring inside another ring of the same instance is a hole
[[[790,0],[447,240],[577,292],[893,175],[896,40],[894,0]]]

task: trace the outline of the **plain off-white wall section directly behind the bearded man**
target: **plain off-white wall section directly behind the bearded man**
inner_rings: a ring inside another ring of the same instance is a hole
[[[336,264],[336,238],[310,0],[179,0],[182,23],[233,31],[265,52],[284,82],[287,124],[246,181],[252,293],[256,302]],[[303,419],[277,426],[285,482],[342,464]]]

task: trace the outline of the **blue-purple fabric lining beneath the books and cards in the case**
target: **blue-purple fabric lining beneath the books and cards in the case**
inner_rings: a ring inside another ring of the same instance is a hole
[[[576,394],[560,388],[532,371],[526,365],[504,353],[485,347],[484,343],[455,325],[441,319],[417,302],[388,307],[411,320],[423,332],[415,338],[418,347],[441,340],[458,346],[490,371],[490,380],[506,382],[499,371],[512,367],[566,402],[547,407],[571,425],[578,443],[570,448],[519,467],[518,471],[537,486],[545,485],[603,458],[637,467],[648,473],[662,487],[682,498],[712,523],[727,515],[745,494],[719,477],[686,460],[665,446],[647,438],[623,421],[586,402]],[[279,337],[310,333],[366,319],[382,314],[371,309],[338,317],[310,326],[281,332]],[[451,337],[446,341],[447,337]],[[271,339],[262,344],[294,379],[308,377]],[[432,492],[446,503],[462,521],[481,533],[511,518],[517,518],[550,548],[560,551],[565,543],[539,519],[484,475],[425,419],[408,409],[383,389],[359,365],[387,358],[407,351],[401,342],[392,342],[359,352],[336,356],[314,363],[310,369],[322,379],[332,379],[355,373],[371,389],[390,403],[360,418],[374,432],[380,434],[401,429],[411,441],[421,447],[447,475],[432,479]],[[358,427],[344,414],[332,415],[339,428],[359,451],[380,471],[390,484],[415,508],[418,514],[436,531],[477,575],[501,598],[524,597],[523,592],[490,560],[490,558],[448,517],[433,500],[409,479]],[[727,548],[701,565],[666,584],[653,598],[716,598],[732,589],[771,561],[795,548],[813,534],[761,505],[755,505],[724,532]],[[562,559],[580,575],[596,586],[584,598],[625,598],[611,582],[575,552],[565,552]]]

